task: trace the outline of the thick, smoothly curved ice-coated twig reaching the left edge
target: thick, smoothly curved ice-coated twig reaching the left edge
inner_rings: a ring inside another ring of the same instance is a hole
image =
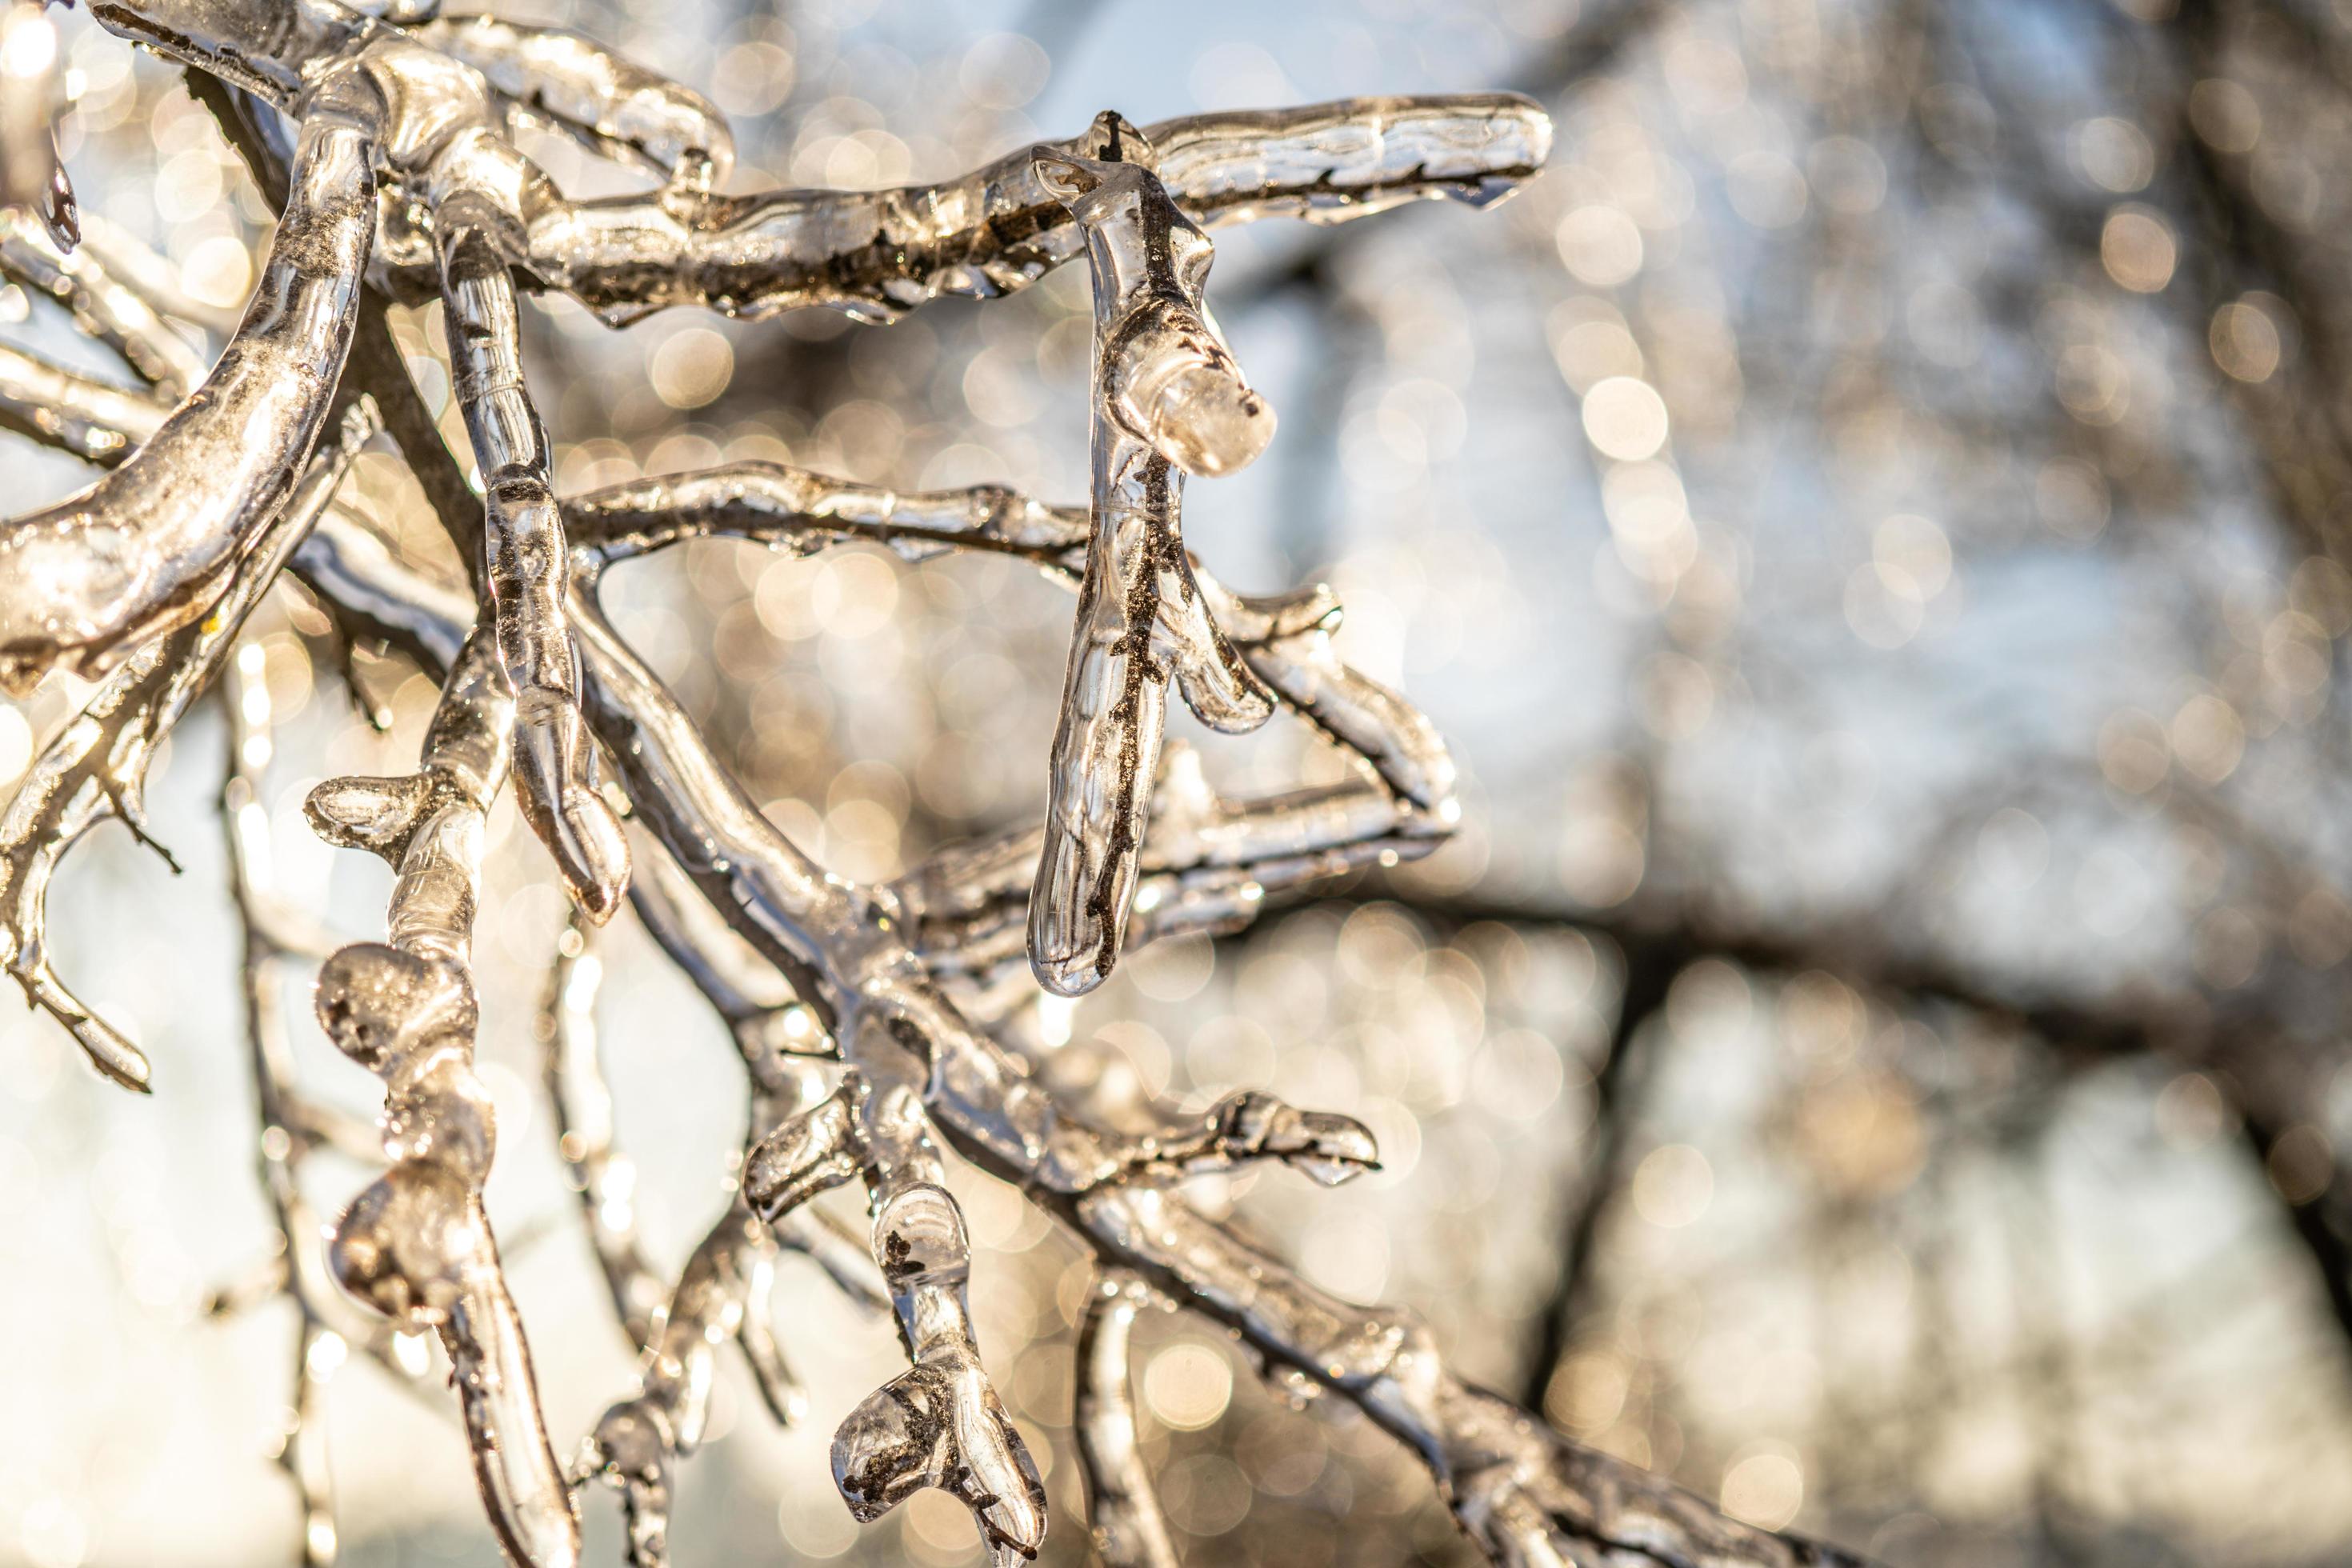
[[[280,515],[334,400],[372,188],[365,139],[308,125],[261,287],[205,386],[111,475],[0,529],[0,686],[103,670],[202,616]]]

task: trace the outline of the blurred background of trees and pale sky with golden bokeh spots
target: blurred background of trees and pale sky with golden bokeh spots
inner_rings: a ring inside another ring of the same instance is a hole
[[[1362,1117],[1383,1173],[1341,1194],[1244,1175],[1232,1206],[1317,1284],[1414,1302],[1470,1375],[1743,1519],[1889,1563],[2352,1556],[2352,228],[2328,174],[2352,160],[2352,14],[508,14],[706,89],[746,186],[934,179],[1103,106],[1538,94],[1552,167],[1486,219],[1218,235],[1211,303],[1284,425],[1188,520],[1235,585],[1341,588],[1345,656],[1454,741],[1468,827],[1049,1013],[1070,1091],[1270,1086]],[[85,205],[233,308],[270,216],[240,160],[176,71],[80,16],[64,31]],[[595,193],[567,143],[529,150]],[[21,287],[0,324],[78,353]],[[437,310],[400,329],[423,348]],[[609,334],[548,301],[534,331],[564,491],[771,456],[1084,494],[1070,268],[889,329],[670,313]],[[21,444],[9,465],[12,503],[85,477]],[[1009,562],[694,545],[616,574],[612,602],[844,875],[1037,811],[1068,602]],[[310,842],[299,802],[412,757],[430,686],[358,656],[395,719],[369,738],[313,630],[266,639],[273,844],[306,903],[365,931],[381,872]],[[59,677],[0,712],[0,769],[85,693]],[[106,837],[56,896],[56,947],[143,1025],[174,1093],[92,1093],[38,1016],[0,1032],[0,1276],[42,1281],[0,1291],[0,1561],[252,1563],[289,1528],[259,1462],[280,1326],[202,1319],[266,1232],[212,891],[219,736],[191,717],[153,792],[191,877]],[[1298,752],[1270,736],[1218,762],[1270,785]],[[550,1422],[579,1432],[628,1354],[555,1309],[595,1288],[532,1112],[562,907],[527,835],[496,837],[492,1204],[546,1229],[515,1279]],[[628,976],[602,1027],[637,1208],[675,1269],[717,1201],[713,1164],[677,1152],[731,1147],[741,1086],[637,931],[607,957]],[[365,1074],[299,1048],[322,1093],[372,1110]],[[1011,1190],[971,1175],[967,1197],[990,1359],[1061,1500],[1073,1458],[1044,1434],[1068,1425],[1087,1262]],[[889,1331],[793,1300],[811,1401],[847,1408],[896,1356]],[[1362,1420],[1284,1408],[1183,1319],[1138,1333],[1195,1561],[1463,1561]],[[779,1434],[722,1387],[715,1425],[727,1441],[684,1472],[682,1563],[974,1561],[936,1495],[856,1533],[830,1420]],[[329,1432],[346,1561],[492,1561],[437,1410],[350,1378]],[[612,1552],[604,1509],[590,1535]],[[1075,1528],[1047,1544],[1080,1549]]]

